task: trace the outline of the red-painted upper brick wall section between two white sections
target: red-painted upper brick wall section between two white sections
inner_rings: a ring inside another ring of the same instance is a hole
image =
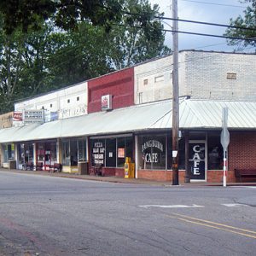
[[[113,96],[113,109],[134,105],[133,67],[91,79],[88,82],[88,113],[102,111],[104,95]]]

